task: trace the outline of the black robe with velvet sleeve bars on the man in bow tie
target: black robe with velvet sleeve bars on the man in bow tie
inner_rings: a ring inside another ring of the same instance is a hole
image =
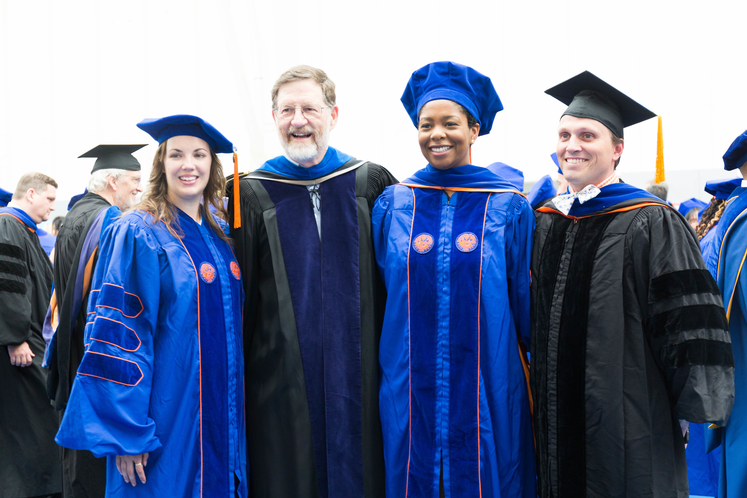
[[[539,496],[686,498],[678,419],[724,423],[734,402],[728,323],[694,231],[650,198],[575,220],[552,202],[540,211],[530,369]]]

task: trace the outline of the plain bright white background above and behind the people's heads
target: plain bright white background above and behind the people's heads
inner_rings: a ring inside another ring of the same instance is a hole
[[[691,196],[705,177],[731,176],[721,156],[747,128],[745,5],[3,0],[0,187],[45,172],[66,204],[94,161],[77,156],[99,143],[149,143],[135,153],[146,178],[155,143],[135,124],[175,113],[211,122],[238,147],[240,169],[254,169],[282,152],[270,88],[298,63],[337,84],[331,145],[406,178],[425,164],[399,101],[406,81],[455,60],[489,75],[505,107],[474,164],[503,161],[529,181],[554,173],[564,106],[543,91],[588,69],[663,116],[666,170]],[[656,131],[656,119],[625,130],[622,178],[653,178]]]

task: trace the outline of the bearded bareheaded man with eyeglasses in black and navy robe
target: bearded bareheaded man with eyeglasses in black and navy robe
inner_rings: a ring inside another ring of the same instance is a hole
[[[384,497],[373,202],[396,179],[329,146],[335,84],[310,66],[272,90],[285,154],[240,175],[253,497]],[[233,196],[232,181],[227,189]]]

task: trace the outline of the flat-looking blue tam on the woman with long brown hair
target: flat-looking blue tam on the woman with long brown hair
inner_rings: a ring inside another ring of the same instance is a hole
[[[188,137],[202,138],[217,154],[234,152],[231,141],[223,137],[223,134],[217,131],[213,125],[205,119],[189,114],[176,114],[158,119],[146,118],[137,123],[137,128],[153,137],[158,145],[171,137],[187,135]]]

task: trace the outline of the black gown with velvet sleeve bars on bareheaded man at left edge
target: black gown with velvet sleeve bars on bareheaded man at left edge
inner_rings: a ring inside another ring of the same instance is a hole
[[[35,228],[35,227],[34,227]],[[59,493],[57,420],[46,394],[42,327],[52,264],[24,222],[0,216],[0,498]],[[10,364],[8,345],[28,343],[28,367]]]

